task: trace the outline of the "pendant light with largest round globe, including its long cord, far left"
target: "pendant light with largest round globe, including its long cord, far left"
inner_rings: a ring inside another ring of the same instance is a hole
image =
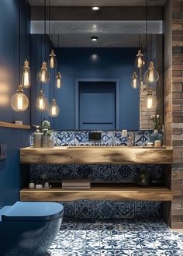
[[[21,52],[21,35],[20,35],[20,22],[21,22],[21,0],[19,0],[19,82],[20,78],[20,52]],[[10,104],[13,110],[16,112],[22,112],[29,106],[29,100],[26,94],[23,93],[22,85],[16,90],[16,93],[12,95]]]

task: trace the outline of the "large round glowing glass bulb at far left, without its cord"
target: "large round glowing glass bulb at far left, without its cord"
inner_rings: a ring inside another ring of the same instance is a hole
[[[16,112],[22,112],[27,109],[29,106],[29,100],[26,96],[26,94],[22,93],[22,86],[19,86],[19,89],[17,90],[17,93],[12,95],[12,98],[10,100],[11,107]]]

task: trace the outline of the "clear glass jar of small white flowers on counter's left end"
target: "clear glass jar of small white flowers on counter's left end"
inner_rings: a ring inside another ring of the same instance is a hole
[[[54,148],[54,139],[51,139],[50,122],[44,120],[42,123],[43,148]]]

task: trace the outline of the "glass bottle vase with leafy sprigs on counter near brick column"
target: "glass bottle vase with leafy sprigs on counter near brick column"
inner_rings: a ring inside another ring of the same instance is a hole
[[[159,133],[159,130],[161,129],[161,117],[159,114],[152,115],[151,120],[154,122],[154,133],[150,135],[150,142],[154,143],[155,141],[161,141],[162,143],[162,134]]]

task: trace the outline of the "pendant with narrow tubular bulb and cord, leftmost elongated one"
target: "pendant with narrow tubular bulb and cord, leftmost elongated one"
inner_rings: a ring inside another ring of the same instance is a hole
[[[27,10],[27,0],[26,0],[26,10]],[[27,12],[27,11],[26,11]],[[27,20],[26,20],[27,23]],[[27,56],[27,27],[26,27],[26,56]],[[22,87],[29,88],[31,86],[30,80],[30,68],[29,68],[29,61],[24,61],[23,72],[22,72]]]

